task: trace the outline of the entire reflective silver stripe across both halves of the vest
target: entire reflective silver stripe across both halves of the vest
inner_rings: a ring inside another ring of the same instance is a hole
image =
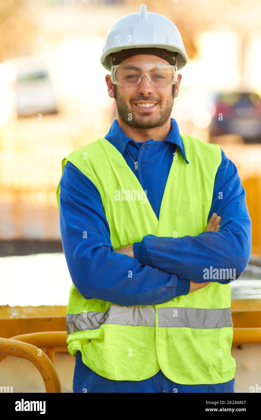
[[[67,314],[67,333],[95,330],[103,324],[155,327],[155,308],[111,304],[106,312]],[[201,309],[165,307],[158,309],[159,327],[223,328],[233,327],[231,308]]]

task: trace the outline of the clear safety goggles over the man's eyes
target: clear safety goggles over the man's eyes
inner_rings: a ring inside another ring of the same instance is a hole
[[[135,61],[111,67],[111,81],[124,87],[132,87],[147,76],[152,86],[166,87],[178,80],[177,66],[154,61]]]

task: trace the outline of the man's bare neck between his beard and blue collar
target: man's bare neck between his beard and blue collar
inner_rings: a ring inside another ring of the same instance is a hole
[[[118,124],[121,130],[134,142],[147,142],[153,139],[155,142],[165,140],[171,132],[171,117],[163,124],[163,126],[155,127],[153,129],[141,129],[138,127],[132,127],[124,123],[118,117]]]

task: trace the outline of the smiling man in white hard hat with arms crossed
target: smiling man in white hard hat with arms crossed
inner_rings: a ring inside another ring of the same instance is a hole
[[[171,21],[142,5],[101,62],[117,118],[57,188],[73,391],[234,392],[229,283],[251,252],[238,172],[171,118],[187,62]]]

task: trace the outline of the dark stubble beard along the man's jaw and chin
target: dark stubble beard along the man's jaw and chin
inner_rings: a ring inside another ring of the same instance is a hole
[[[173,84],[172,92],[168,96],[166,106],[163,110],[160,110],[159,115],[157,118],[151,118],[151,120],[137,117],[137,115],[134,115],[131,113],[131,110],[126,105],[126,102],[121,97],[119,91],[117,92],[117,85],[114,85],[114,99],[116,103],[116,109],[117,109],[117,115],[121,119],[121,121],[124,121],[124,123],[128,124],[131,127],[136,127],[140,129],[152,129],[155,127],[161,127],[163,124],[165,124],[166,121],[168,121],[168,118],[171,116],[171,111],[173,108],[174,103],[174,97],[175,97],[175,85]],[[146,99],[144,99],[146,100]],[[134,105],[136,106],[136,105]]]

